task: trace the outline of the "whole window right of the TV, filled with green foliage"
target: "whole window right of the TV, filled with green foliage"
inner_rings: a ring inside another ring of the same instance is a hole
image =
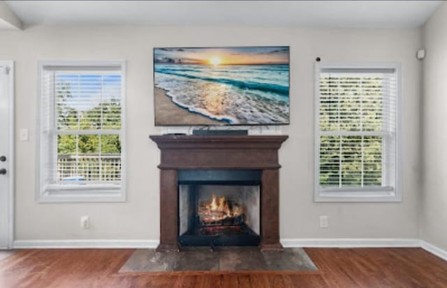
[[[400,67],[316,67],[315,200],[401,201]]]

